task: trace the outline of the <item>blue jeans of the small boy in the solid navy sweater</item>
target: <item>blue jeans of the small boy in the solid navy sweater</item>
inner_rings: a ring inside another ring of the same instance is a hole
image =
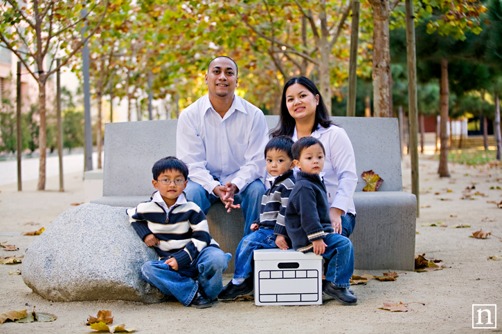
[[[354,248],[348,238],[338,233],[330,233],[324,237],[326,247],[322,257],[328,262],[326,281],[334,283],[337,288],[348,288],[349,280],[354,272]]]

